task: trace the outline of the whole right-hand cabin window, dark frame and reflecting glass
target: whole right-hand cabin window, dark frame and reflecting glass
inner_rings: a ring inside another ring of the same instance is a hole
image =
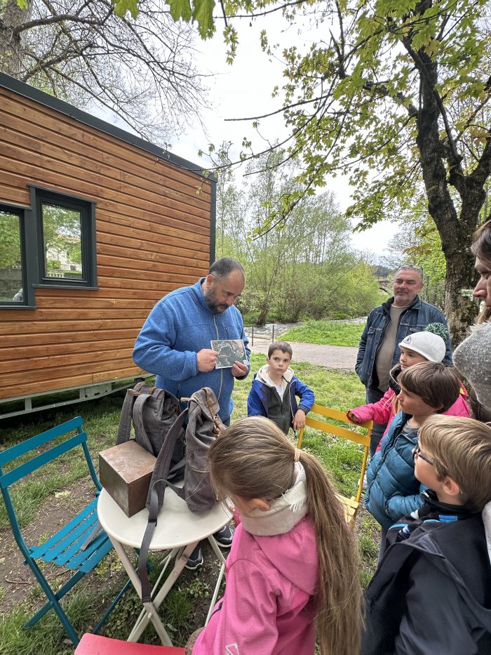
[[[38,225],[39,284],[97,284],[95,203],[33,189]]]

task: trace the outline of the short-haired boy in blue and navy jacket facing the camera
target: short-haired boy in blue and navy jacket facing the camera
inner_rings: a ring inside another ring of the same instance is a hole
[[[305,416],[314,404],[314,392],[293,375],[291,359],[292,347],[289,343],[271,343],[267,364],[255,374],[247,399],[248,416],[266,416],[285,435],[290,428],[304,428]]]

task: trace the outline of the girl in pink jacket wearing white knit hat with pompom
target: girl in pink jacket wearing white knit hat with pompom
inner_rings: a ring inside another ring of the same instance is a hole
[[[442,331],[444,330],[444,332]],[[436,333],[433,332],[436,331]],[[389,390],[387,390],[379,400],[379,402],[370,403],[368,405],[361,405],[356,409],[350,409],[347,412],[347,417],[352,423],[363,423],[363,421],[370,421],[374,423],[386,423],[384,437],[392,419],[396,415],[396,395],[399,393],[399,385],[397,378],[399,373],[409,366],[419,364],[420,362],[442,362],[445,357],[445,341],[447,331],[445,326],[441,323],[432,323],[422,332],[415,332],[408,334],[408,336],[399,343],[401,349],[401,357],[399,364],[394,366],[391,370],[389,377]],[[450,416],[471,416],[471,410],[466,402],[468,393],[464,385],[460,385],[460,394],[455,403],[443,412]],[[382,441],[382,439],[381,439]],[[380,450],[380,444],[377,447],[377,452]]]

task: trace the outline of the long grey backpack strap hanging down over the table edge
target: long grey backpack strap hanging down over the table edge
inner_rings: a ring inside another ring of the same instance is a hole
[[[187,409],[184,409],[179,416],[175,419],[172,427],[168,431],[168,435],[162,444],[159,456],[156,459],[152,479],[150,480],[150,487],[147,496],[147,508],[149,510],[149,517],[147,528],[142,539],[140,546],[140,557],[138,559],[138,576],[142,584],[142,602],[152,602],[152,590],[147,573],[147,557],[154,536],[154,531],[157,525],[157,515],[162,507],[163,494],[166,491],[167,476],[170,467],[170,460],[174,451],[176,439],[180,433],[184,419],[187,415]]]

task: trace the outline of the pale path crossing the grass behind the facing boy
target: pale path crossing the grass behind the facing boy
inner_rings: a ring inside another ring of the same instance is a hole
[[[271,340],[254,337],[254,345],[250,346],[252,352],[267,353]],[[341,369],[354,371],[356,353],[358,348],[342,345],[320,345],[317,343],[292,343],[293,361],[310,362],[328,369]]]

